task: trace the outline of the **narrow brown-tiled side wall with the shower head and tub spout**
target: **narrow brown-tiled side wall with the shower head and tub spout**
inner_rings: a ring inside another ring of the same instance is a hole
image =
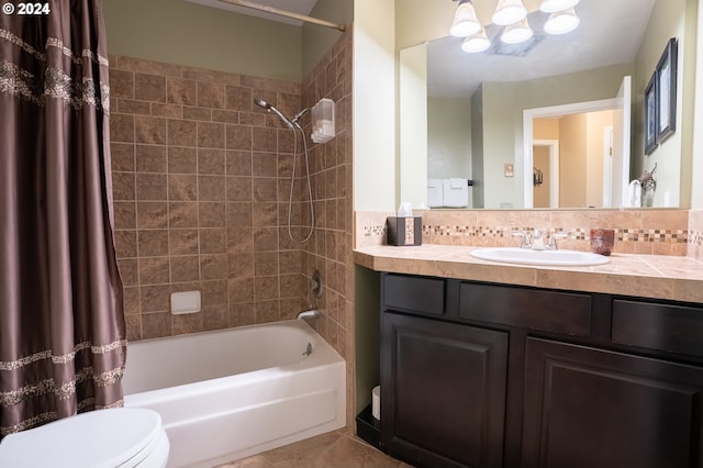
[[[321,310],[312,325],[347,361],[347,423],[354,421],[354,264],[352,208],[352,31],[347,31],[303,82],[303,104],[335,102],[336,136],[310,153],[315,230],[303,246],[303,274],[324,281],[321,298],[306,288],[305,301]],[[310,134],[310,119],[303,120]],[[302,196],[305,199],[305,196]],[[302,210],[303,218],[305,210]],[[304,223],[303,223],[304,224]]]

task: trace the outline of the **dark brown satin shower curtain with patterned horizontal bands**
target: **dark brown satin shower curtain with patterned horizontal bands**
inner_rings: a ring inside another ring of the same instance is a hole
[[[101,1],[0,7],[1,438],[121,405],[126,342]]]

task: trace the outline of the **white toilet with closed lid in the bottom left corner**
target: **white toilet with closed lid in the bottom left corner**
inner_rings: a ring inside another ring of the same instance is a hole
[[[0,443],[0,467],[164,468],[168,452],[157,412],[118,408],[5,436]]]

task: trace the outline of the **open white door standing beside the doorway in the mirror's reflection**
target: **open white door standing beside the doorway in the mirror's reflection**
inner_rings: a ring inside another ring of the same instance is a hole
[[[626,207],[629,188],[629,132],[633,102],[632,77],[623,78],[615,98],[616,109],[613,115],[613,179],[612,208]]]

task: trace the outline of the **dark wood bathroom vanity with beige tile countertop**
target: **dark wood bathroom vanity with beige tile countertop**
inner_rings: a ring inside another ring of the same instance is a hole
[[[357,255],[382,271],[382,450],[432,467],[702,466],[700,263],[667,276],[633,271],[635,256],[617,271],[409,254]],[[663,289],[633,294],[641,282]]]

